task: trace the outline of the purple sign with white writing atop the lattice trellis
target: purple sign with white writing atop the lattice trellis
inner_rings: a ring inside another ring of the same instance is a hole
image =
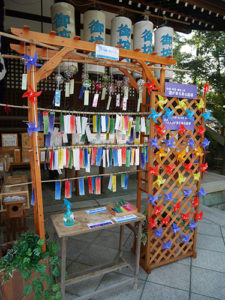
[[[165,83],[165,96],[178,98],[197,98],[197,86],[189,84],[181,84],[176,82]]]

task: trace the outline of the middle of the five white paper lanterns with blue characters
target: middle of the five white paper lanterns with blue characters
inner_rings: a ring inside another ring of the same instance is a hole
[[[131,49],[132,21],[123,16],[116,16],[111,21],[111,46],[122,45],[121,48]],[[123,61],[130,61],[129,59]],[[112,68],[112,74],[123,74],[117,68]]]

